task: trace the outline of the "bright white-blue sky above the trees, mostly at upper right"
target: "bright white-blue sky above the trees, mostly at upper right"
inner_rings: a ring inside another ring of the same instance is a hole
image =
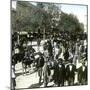
[[[35,2],[30,2],[36,5]],[[60,7],[60,4],[57,4]],[[16,1],[12,2],[12,7],[16,8]],[[84,24],[85,31],[87,31],[87,6],[85,5],[71,5],[71,4],[61,4],[61,10],[65,13],[72,13],[79,19],[79,22]]]

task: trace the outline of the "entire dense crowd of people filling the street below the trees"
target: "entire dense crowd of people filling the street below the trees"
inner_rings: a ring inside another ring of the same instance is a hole
[[[32,44],[27,45],[30,37],[24,37],[23,40],[19,38],[19,43],[14,35],[12,39],[12,62],[22,62],[26,65],[25,68],[33,64],[38,72],[39,84],[43,82],[44,87],[47,87],[49,82],[58,87],[66,84],[87,84],[87,38],[81,39],[67,33],[59,33],[47,38],[46,41],[43,39],[43,45],[42,39],[37,38],[37,47],[42,46],[43,52],[35,51]],[[16,48],[19,50],[15,52]],[[37,55],[38,58],[35,58]]]

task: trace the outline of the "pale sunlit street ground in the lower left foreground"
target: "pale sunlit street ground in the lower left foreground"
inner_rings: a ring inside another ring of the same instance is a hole
[[[29,89],[29,88],[38,88],[44,87],[44,85],[39,82],[38,73],[34,72],[33,70],[31,73],[23,74],[22,73],[22,64],[18,63],[15,67],[16,69],[16,90],[17,89]],[[48,86],[53,86],[53,82],[50,82]]]

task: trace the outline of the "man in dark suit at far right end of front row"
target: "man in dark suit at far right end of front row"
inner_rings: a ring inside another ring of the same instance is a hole
[[[80,85],[87,84],[87,66],[85,66],[85,61],[82,62],[82,66],[78,69],[78,81]]]

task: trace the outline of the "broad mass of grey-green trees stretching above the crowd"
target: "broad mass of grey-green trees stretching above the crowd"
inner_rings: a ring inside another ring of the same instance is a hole
[[[84,25],[73,14],[60,11],[57,4],[17,2],[17,9],[13,12],[12,28],[15,31],[40,32],[70,32],[78,34],[84,32]],[[14,24],[15,23],[15,24]]]

